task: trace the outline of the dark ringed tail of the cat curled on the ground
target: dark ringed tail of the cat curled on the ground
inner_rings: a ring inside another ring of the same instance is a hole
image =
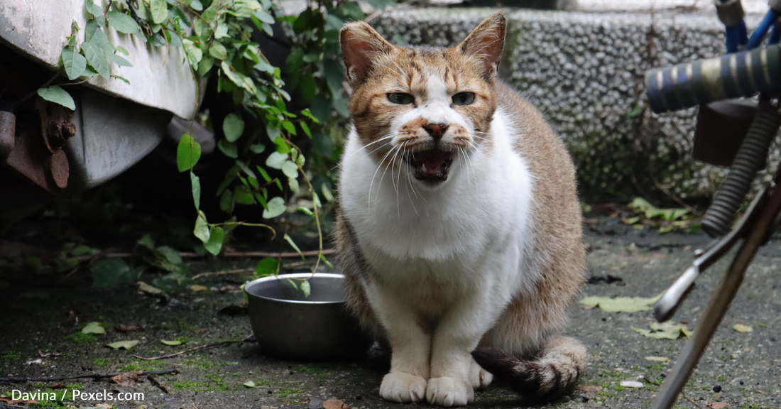
[[[472,356],[498,381],[530,400],[549,400],[569,392],[587,364],[586,347],[566,336],[550,340],[533,360],[484,347],[474,350]]]

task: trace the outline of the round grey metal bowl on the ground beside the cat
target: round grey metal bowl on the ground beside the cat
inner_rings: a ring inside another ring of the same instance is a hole
[[[289,279],[308,279],[309,297]],[[252,332],[264,354],[333,359],[363,354],[369,347],[369,337],[347,309],[341,274],[268,276],[247,283],[244,293]]]

